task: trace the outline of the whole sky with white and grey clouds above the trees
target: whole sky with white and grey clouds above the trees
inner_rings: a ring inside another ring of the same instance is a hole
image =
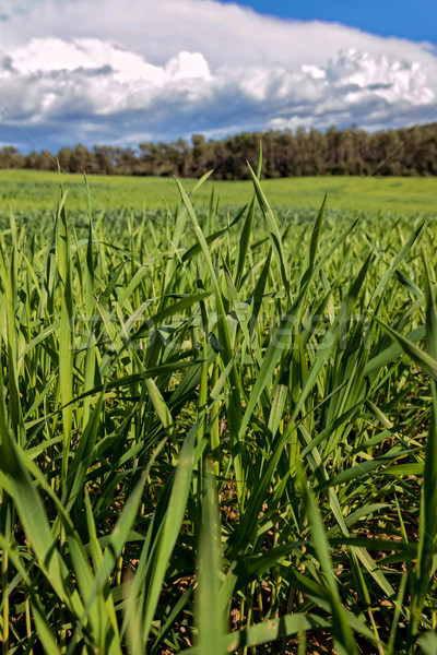
[[[437,3],[2,0],[0,146],[437,120]]]

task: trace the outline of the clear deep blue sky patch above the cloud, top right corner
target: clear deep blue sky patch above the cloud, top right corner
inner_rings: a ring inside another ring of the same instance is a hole
[[[224,4],[231,1],[222,0]],[[435,0],[243,0],[238,4],[283,19],[338,21],[381,36],[437,44]]]

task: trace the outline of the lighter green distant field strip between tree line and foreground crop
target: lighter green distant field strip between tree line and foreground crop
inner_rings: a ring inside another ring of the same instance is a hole
[[[69,209],[85,210],[86,200],[81,175],[66,175],[63,184],[69,191]],[[141,210],[163,206],[178,201],[176,183],[170,178],[90,176],[96,209]],[[187,189],[194,181],[185,180]],[[59,176],[34,170],[0,170],[0,211],[14,212],[55,209]],[[212,188],[222,206],[241,205],[252,195],[249,181],[205,183],[197,193],[197,202],[209,200]],[[371,178],[308,177],[264,180],[263,189],[272,205],[281,207],[318,207],[327,189],[331,210],[345,209],[395,214],[435,213],[437,178]]]

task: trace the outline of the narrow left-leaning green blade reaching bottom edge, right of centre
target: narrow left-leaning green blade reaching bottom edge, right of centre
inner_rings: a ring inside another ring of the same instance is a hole
[[[331,596],[332,610],[332,632],[339,655],[358,655],[356,642],[352,634],[352,630],[345,617],[345,609],[342,606],[338,582],[332,570],[331,557],[329,553],[329,545],[323,527],[323,522],[320,516],[316,499],[309,487],[309,483],[305,479],[299,462],[296,462],[296,473],[299,478],[302,495],[305,502],[308,522],[311,527],[314,547],[320,562],[320,567],[324,573],[327,585]]]

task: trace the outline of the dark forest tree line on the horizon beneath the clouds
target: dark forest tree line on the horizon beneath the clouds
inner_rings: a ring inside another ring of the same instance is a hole
[[[66,172],[200,177],[214,169],[215,179],[248,177],[247,160],[256,165],[262,141],[262,177],[317,175],[437,175],[437,122],[368,133],[352,127],[326,132],[244,132],[222,140],[194,134],[191,143],[140,143],[133,147],[83,145],[21,154],[14,146],[0,148],[0,168],[56,169]]]

